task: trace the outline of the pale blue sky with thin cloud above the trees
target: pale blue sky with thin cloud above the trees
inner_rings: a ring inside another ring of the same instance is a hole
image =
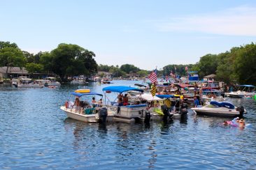
[[[0,0],[0,16],[0,41],[24,51],[76,44],[145,70],[256,42],[255,0]]]

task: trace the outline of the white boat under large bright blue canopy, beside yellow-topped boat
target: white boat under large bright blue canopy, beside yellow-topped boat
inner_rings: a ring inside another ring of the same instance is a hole
[[[108,113],[113,113],[114,115],[113,121],[131,123],[136,121],[136,119],[140,120],[145,117],[147,105],[142,104],[138,98],[129,98],[128,105],[125,106],[116,102],[116,100],[118,100],[118,95],[122,95],[122,93],[128,91],[137,91],[142,94],[143,90],[140,88],[129,86],[108,86],[102,88],[102,91],[105,93],[105,98],[107,98],[106,93],[116,93],[115,100],[112,102],[109,100],[108,103],[106,103],[106,107],[108,107]]]

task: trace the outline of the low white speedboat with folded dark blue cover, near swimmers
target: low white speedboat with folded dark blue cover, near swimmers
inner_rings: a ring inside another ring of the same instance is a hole
[[[211,116],[243,116],[246,109],[243,107],[235,107],[230,102],[211,101],[209,105],[192,108],[195,114],[211,115]]]

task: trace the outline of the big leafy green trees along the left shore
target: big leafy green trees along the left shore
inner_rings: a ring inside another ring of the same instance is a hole
[[[97,73],[94,52],[78,45],[59,44],[51,52],[30,54],[22,51],[15,43],[0,41],[0,65],[24,67],[29,73],[54,73],[62,81],[74,75],[92,75]],[[7,73],[6,70],[6,73]]]

